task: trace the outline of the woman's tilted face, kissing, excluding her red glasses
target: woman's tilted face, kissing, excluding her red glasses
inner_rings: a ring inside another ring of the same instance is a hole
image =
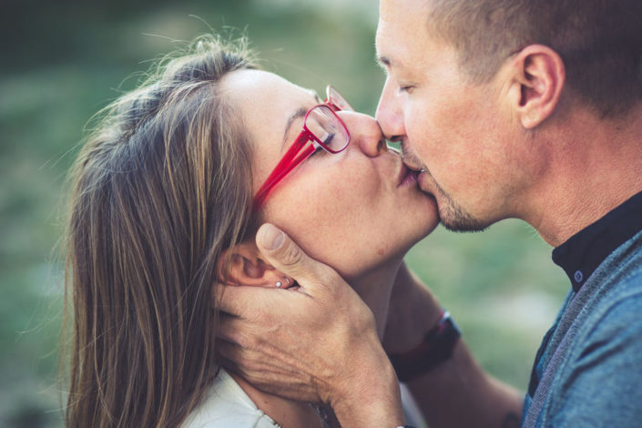
[[[254,144],[256,193],[301,132],[305,112],[320,100],[257,70],[229,74],[222,89]],[[350,131],[348,147],[338,154],[318,150],[303,161],[271,190],[260,216],[351,279],[401,260],[439,219],[434,199],[386,148],[376,121],[353,112],[338,116]]]

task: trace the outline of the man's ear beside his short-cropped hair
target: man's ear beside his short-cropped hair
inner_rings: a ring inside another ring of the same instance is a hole
[[[526,129],[537,127],[555,111],[566,81],[562,57],[544,45],[529,45],[511,64],[511,105]]]

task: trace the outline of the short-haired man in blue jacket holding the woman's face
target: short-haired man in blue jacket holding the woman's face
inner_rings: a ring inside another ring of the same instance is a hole
[[[431,427],[642,421],[641,35],[639,0],[381,0],[377,119],[422,170],[443,224],[524,219],[573,286],[524,400],[400,271],[383,347],[420,366],[403,377]],[[307,299],[226,290],[224,361],[270,391],[330,403],[343,426],[403,425],[372,315],[280,230],[257,241]]]

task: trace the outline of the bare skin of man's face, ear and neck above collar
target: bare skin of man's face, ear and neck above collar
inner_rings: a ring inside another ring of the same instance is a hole
[[[453,47],[428,31],[429,4],[381,2],[376,45],[388,76],[377,119],[402,142],[409,166],[426,169],[420,186],[435,195],[446,227],[518,218],[559,245],[636,192],[604,159],[639,158],[635,145],[612,138],[636,138],[639,106],[609,121],[578,108],[563,97],[562,59],[541,45],[506,58],[490,82],[471,84]],[[598,191],[610,187],[630,190]],[[600,194],[596,207],[586,209],[586,194]]]

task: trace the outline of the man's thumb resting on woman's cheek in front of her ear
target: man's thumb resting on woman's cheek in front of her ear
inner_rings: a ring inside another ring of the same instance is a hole
[[[272,266],[294,278],[308,294],[343,282],[328,265],[312,259],[290,237],[276,226],[262,225],[256,236],[261,254]]]

